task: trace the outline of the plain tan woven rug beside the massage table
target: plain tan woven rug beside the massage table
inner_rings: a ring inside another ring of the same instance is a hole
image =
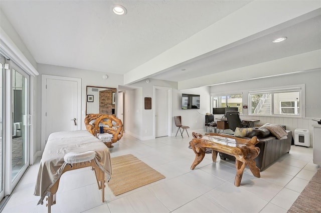
[[[111,158],[112,175],[108,186],[115,196],[165,178],[132,154]]]

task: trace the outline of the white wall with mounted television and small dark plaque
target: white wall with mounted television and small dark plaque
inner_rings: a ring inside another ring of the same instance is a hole
[[[199,87],[199,88],[192,88],[192,89],[184,89],[178,90],[177,89],[177,82],[174,81],[165,81],[165,80],[157,80],[157,79],[150,79],[150,82],[147,83],[145,80],[141,80],[139,82],[131,84],[131,86],[141,88],[141,94],[138,92],[133,93],[130,88],[128,90],[125,89],[125,125],[126,125],[126,132],[132,134],[133,136],[139,139],[148,139],[153,137],[153,110],[152,109],[144,109],[143,101],[144,97],[153,97],[153,86],[163,86],[163,87],[171,87],[173,92],[173,106],[172,106],[172,135],[176,134],[177,127],[175,126],[174,116],[181,115],[182,122],[184,125],[190,126],[189,132],[192,131],[203,131],[205,128],[205,114],[210,112],[210,87]],[[200,109],[182,109],[182,93],[190,93],[190,94],[200,94]],[[130,95],[130,97],[128,97]],[[132,95],[135,95],[135,101],[133,100]],[[138,95],[138,96],[136,96]],[[137,100],[140,101],[140,106],[138,106]],[[128,104],[130,102],[130,104]],[[135,104],[133,104],[135,103]],[[128,114],[127,110],[133,110],[132,107],[135,106],[136,112]],[[137,108],[140,107],[140,108]],[[126,107],[129,107],[127,109]],[[132,121],[139,122],[139,120],[133,119],[133,117],[137,117],[137,113],[140,113],[142,117],[141,119],[141,126],[139,123],[135,125],[130,123]],[[130,120],[130,122],[129,122]],[[133,132],[135,128],[138,127],[137,132]],[[140,135],[137,133],[140,132]]]

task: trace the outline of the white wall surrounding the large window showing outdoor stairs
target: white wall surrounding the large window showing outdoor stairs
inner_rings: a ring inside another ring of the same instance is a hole
[[[243,105],[248,104],[248,92],[252,90],[260,90],[262,88],[270,88],[286,85],[305,84],[305,117],[291,117],[291,116],[250,116],[248,109],[243,109],[244,118],[259,119],[259,123],[279,123],[286,125],[286,129],[292,130],[294,135],[295,128],[309,129],[310,141],[312,138],[312,124],[316,121],[311,120],[321,118],[321,70],[304,71],[295,74],[261,78],[256,80],[248,80],[242,82],[226,83],[211,86],[211,92],[229,92],[240,91],[243,92]],[[311,143],[312,146],[312,143]]]

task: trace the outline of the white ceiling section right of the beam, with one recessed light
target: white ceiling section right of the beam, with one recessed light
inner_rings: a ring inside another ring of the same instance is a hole
[[[321,15],[282,27],[280,30],[277,30],[280,26],[275,28],[275,31],[269,29],[273,32],[264,36],[253,35],[257,38],[247,38],[249,41],[244,43],[231,44],[233,47],[227,45],[224,49],[216,49],[199,58],[178,64],[163,73],[155,74],[153,78],[181,81],[321,48]],[[271,42],[274,38],[283,35],[288,37],[284,42]]]

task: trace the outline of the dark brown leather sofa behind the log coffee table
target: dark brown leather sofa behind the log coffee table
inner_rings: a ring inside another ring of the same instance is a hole
[[[255,146],[260,148],[259,155],[255,158],[257,167],[260,168],[260,171],[263,171],[273,162],[275,162],[278,158],[280,158],[283,154],[289,153],[291,149],[292,142],[292,131],[286,130],[288,135],[286,139],[278,140],[275,136],[270,135],[268,137],[259,138],[260,142],[258,142]],[[229,154],[221,153],[221,159],[231,159],[235,160],[234,156]]]

